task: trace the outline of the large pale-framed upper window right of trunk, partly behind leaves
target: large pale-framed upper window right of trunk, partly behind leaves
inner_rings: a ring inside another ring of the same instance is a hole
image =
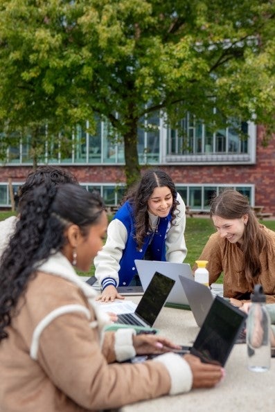
[[[167,129],[166,161],[175,163],[255,163],[256,126],[231,119],[213,132],[190,114]]]

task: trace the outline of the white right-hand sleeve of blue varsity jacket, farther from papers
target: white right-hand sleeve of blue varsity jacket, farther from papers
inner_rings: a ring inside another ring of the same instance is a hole
[[[184,238],[186,214],[184,200],[177,194],[179,205],[175,211],[174,224],[170,226],[166,237],[166,260],[168,262],[182,263],[186,258],[187,248]]]

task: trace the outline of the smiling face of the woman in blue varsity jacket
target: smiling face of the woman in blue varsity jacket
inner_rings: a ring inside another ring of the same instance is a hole
[[[154,188],[148,200],[148,211],[152,215],[166,217],[172,206],[172,192],[167,186]]]

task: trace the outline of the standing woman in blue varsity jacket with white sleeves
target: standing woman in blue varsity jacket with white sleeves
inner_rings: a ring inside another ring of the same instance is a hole
[[[116,287],[136,284],[135,259],[182,263],[185,204],[163,170],[148,170],[127,193],[107,229],[105,246],[94,259],[101,301],[123,298]]]

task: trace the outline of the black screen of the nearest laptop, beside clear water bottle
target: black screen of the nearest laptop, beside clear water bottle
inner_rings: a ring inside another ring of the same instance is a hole
[[[191,353],[202,361],[224,366],[246,317],[244,312],[216,296]]]

